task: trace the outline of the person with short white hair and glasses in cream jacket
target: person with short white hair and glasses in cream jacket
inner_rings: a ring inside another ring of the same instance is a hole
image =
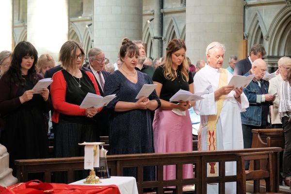
[[[291,58],[290,57],[281,57],[278,61],[278,68],[279,68],[279,75],[275,78],[272,78],[269,83],[269,94],[275,94],[278,91],[278,88],[282,81],[286,78],[287,73],[291,68]],[[275,97],[273,101],[273,105],[270,106],[271,108],[271,123],[273,129],[281,129],[282,123],[278,113],[279,107],[279,98]]]

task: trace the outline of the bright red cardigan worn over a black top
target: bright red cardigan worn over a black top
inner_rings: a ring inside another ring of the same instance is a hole
[[[86,71],[86,73],[94,84],[96,94],[100,95],[94,75],[88,71]],[[62,70],[53,74],[52,80],[53,82],[50,85],[50,95],[54,112],[51,120],[55,123],[58,123],[60,113],[67,115],[85,115],[85,109],[81,109],[79,105],[65,102],[66,81]],[[101,110],[102,107],[98,109],[98,113]]]

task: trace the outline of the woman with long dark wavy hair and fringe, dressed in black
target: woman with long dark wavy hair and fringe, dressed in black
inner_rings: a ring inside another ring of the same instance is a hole
[[[9,166],[16,175],[15,160],[48,156],[46,118],[51,108],[49,90],[32,90],[43,77],[36,73],[37,51],[30,42],[18,43],[9,70],[0,79],[0,114],[5,118],[0,143],[9,152]],[[39,92],[39,94],[33,94]]]

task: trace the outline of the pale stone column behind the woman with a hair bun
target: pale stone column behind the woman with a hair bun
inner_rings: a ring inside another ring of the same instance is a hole
[[[142,40],[142,0],[94,0],[94,47],[115,63],[121,41]]]

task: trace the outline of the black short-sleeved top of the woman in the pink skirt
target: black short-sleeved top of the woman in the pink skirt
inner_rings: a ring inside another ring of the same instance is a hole
[[[179,69],[177,71],[177,79],[174,81],[168,80],[164,77],[164,68],[162,65],[158,66],[153,75],[153,81],[162,83],[160,98],[169,101],[170,98],[176,94],[180,89],[189,91],[189,84],[193,83],[192,73],[189,71],[189,81],[182,79],[182,73]]]

